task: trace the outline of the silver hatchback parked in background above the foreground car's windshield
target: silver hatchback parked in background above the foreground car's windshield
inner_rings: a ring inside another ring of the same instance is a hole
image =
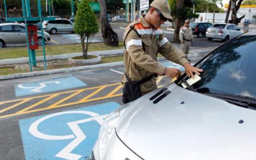
[[[243,31],[241,31],[241,29],[237,27],[236,24],[225,23],[214,24],[206,31],[206,37],[208,38],[208,40],[212,40],[212,38],[217,38],[227,41],[230,38],[234,38],[241,34],[243,34]]]

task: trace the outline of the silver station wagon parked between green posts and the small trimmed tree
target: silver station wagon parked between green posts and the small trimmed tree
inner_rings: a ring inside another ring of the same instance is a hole
[[[55,35],[58,32],[74,32],[74,23],[67,19],[44,20],[43,29]]]

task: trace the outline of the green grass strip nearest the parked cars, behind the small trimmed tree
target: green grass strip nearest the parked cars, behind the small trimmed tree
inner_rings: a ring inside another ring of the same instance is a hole
[[[118,47],[110,47],[104,43],[93,43],[89,45],[90,51],[105,51],[113,49],[122,49],[123,43],[119,42]],[[65,54],[81,52],[82,55],[82,45],[81,44],[65,44],[65,45],[45,45],[45,54],[46,56],[55,55],[55,54]],[[36,56],[43,56],[42,47],[39,47],[36,50]],[[0,60],[10,59],[10,58],[23,58],[28,57],[28,49],[24,47],[7,47],[0,49]]]

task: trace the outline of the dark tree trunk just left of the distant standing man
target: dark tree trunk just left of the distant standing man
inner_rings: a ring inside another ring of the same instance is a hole
[[[184,7],[184,0],[177,0],[176,6],[178,9],[182,9]],[[181,26],[183,26],[185,18],[186,17],[184,17],[184,19],[178,17],[175,20],[174,35],[173,35],[174,42],[180,41],[180,39],[179,39],[180,28],[181,28]]]

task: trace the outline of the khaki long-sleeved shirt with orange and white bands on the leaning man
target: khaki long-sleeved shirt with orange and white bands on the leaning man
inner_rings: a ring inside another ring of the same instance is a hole
[[[140,36],[134,30],[129,31],[130,26],[134,26]],[[127,37],[125,38],[125,36]],[[154,73],[163,74],[166,67],[157,62],[157,52],[167,60],[180,65],[189,63],[182,51],[176,49],[164,37],[161,28],[153,29],[143,17],[132,22],[126,28],[124,39],[124,67],[132,81],[140,81]],[[122,84],[127,81],[124,75],[121,81]],[[156,88],[156,77],[140,85],[142,93],[150,92]]]

